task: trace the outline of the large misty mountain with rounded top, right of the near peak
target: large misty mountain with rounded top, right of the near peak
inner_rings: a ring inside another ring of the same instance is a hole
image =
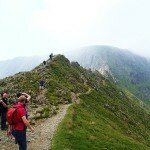
[[[142,100],[150,100],[150,61],[128,50],[89,46],[66,55],[85,68],[98,70]]]

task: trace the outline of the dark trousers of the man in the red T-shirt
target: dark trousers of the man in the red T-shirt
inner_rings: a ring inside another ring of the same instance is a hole
[[[13,130],[12,135],[19,145],[19,150],[27,150],[26,130]]]

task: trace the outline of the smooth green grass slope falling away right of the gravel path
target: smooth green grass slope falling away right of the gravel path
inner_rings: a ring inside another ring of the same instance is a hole
[[[81,94],[59,126],[52,150],[149,150],[150,115],[135,97],[108,81],[92,80],[91,92]]]

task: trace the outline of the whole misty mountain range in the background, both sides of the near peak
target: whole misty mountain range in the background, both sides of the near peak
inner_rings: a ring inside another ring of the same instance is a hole
[[[150,60],[128,50],[110,46],[89,46],[65,53],[71,61],[98,70],[107,79],[128,89],[138,98],[150,100]],[[47,56],[18,57],[0,62],[0,78],[30,71]]]

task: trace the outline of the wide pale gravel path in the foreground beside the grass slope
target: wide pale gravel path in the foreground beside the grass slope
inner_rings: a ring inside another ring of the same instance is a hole
[[[62,105],[59,112],[48,119],[43,120],[34,127],[35,133],[27,132],[27,137],[30,140],[28,150],[49,150],[53,135],[58,127],[58,124],[64,118],[68,105]],[[18,150],[18,145],[14,144],[14,140],[7,138],[6,132],[0,131],[0,150]]]

